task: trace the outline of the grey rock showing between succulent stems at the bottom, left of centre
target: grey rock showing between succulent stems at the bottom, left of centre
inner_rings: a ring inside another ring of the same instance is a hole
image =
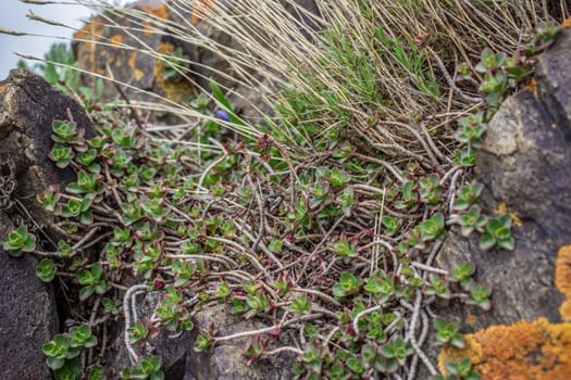
[[[146,296],[139,295],[137,297],[139,320],[149,319],[160,300],[160,292],[151,292]],[[200,329],[206,330],[211,324],[214,324],[218,337],[256,330],[268,327],[266,325],[258,320],[234,317],[223,305],[200,311],[193,319],[195,321],[193,331],[185,332],[177,338],[169,338],[167,332],[161,331],[156,339],[144,344],[135,344],[134,350],[138,355],[160,355],[163,359],[162,370],[165,379],[170,380],[285,380],[291,378],[291,365],[295,357],[290,354],[278,355],[248,366],[247,358],[243,356],[248,339],[223,342],[208,352],[194,351]],[[105,352],[107,375],[111,378],[120,376],[121,370],[129,363],[123,328],[124,326],[116,326],[113,332],[115,338]],[[270,350],[271,347],[270,343]]]

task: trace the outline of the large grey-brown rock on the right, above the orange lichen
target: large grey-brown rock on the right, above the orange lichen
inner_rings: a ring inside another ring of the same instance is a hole
[[[491,312],[452,308],[467,332],[539,317],[560,321],[563,297],[554,273],[559,249],[571,243],[570,64],[568,29],[541,56],[536,87],[507,99],[488,125],[476,177],[485,187],[484,210],[505,205],[512,217],[516,249],[483,252],[479,237],[459,235],[445,242],[443,267],[471,261],[477,281],[494,288]]]

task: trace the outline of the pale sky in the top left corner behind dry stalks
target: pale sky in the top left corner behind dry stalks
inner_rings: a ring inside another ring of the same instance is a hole
[[[74,30],[28,20],[26,14],[28,14],[29,10],[41,17],[58,21],[75,28],[80,28],[83,26],[82,20],[88,18],[91,14],[89,9],[77,4],[36,5],[22,3],[20,0],[1,1],[3,5],[0,12],[1,28],[38,35],[70,38]],[[122,1],[123,3],[126,2],[126,0]],[[69,3],[73,2],[73,0],[64,2]],[[114,1],[110,2],[114,3]],[[116,1],[115,3],[120,2]],[[54,42],[67,42],[67,40],[38,36],[15,37],[0,34],[0,80],[5,79],[10,69],[16,67],[20,58],[14,52],[44,58],[44,54]],[[34,64],[35,62],[30,61],[29,63]]]

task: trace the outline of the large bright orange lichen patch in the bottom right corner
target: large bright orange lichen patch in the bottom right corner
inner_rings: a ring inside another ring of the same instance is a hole
[[[493,326],[469,334],[467,349],[447,347],[438,364],[470,357],[486,379],[571,379],[571,324],[550,325],[541,318],[512,326]]]

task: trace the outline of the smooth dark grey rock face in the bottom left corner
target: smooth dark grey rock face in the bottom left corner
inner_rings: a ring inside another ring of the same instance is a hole
[[[14,226],[0,211],[0,241]],[[41,345],[58,332],[50,286],[36,277],[37,259],[14,258],[0,244],[0,368],[2,379],[51,379]]]

